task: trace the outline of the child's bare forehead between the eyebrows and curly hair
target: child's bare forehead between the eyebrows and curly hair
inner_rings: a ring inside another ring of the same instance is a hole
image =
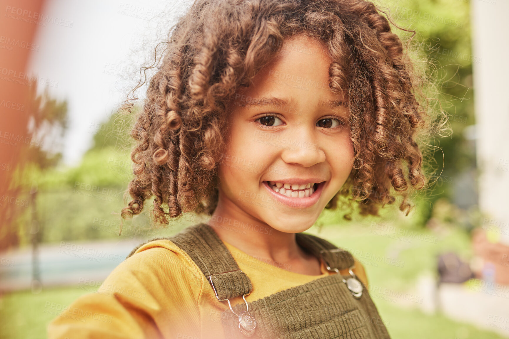
[[[284,41],[271,62],[253,77],[249,87],[241,87],[237,94],[258,98],[293,98],[297,105],[310,102],[344,102],[343,95],[329,89],[329,67],[332,59],[326,46],[306,36]]]

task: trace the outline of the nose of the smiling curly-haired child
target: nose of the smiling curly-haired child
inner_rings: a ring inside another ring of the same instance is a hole
[[[313,132],[299,129],[291,135],[288,138],[288,147],[285,147],[281,153],[285,163],[311,167],[325,161],[325,152],[316,142]]]

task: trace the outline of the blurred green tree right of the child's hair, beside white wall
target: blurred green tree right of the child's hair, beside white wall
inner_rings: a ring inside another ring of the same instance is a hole
[[[431,218],[435,201],[446,198],[455,202],[458,190],[465,189],[462,175],[476,170],[475,144],[471,138],[475,124],[472,65],[480,64],[482,59],[472,55],[467,1],[381,0],[378,5],[395,24],[415,32],[411,38],[413,32],[393,26],[397,34],[409,41],[410,55],[417,68],[425,69],[423,72],[433,84],[431,88],[422,88],[429,95],[429,104],[434,110],[443,110],[448,117],[444,126],[448,132],[437,130],[431,153],[425,154],[433,184],[414,198],[420,214],[418,219],[424,226]],[[466,184],[470,191],[475,191],[475,182]],[[476,196],[471,200],[476,200]]]

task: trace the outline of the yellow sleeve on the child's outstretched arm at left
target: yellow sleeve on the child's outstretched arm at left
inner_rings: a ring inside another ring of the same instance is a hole
[[[183,307],[188,317],[199,317],[192,305],[199,298],[201,277],[182,254],[145,248],[117,266],[96,293],[77,298],[53,319],[48,339],[159,339],[161,332],[172,330],[168,319],[182,320]]]

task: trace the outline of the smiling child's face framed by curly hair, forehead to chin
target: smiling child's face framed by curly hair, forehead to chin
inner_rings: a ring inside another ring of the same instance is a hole
[[[345,99],[328,89],[332,59],[303,36],[283,48],[228,107],[218,207],[296,233],[341,189],[354,154]]]

